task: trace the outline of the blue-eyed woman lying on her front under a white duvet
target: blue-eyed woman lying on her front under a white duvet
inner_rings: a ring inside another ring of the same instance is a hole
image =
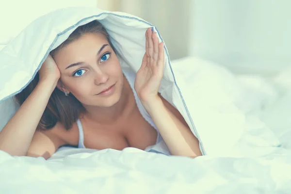
[[[16,95],[21,106],[0,132],[0,149],[48,159],[65,145],[145,149],[160,133],[172,155],[201,155],[181,114],[158,93],[163,65],[163,43],[151,29],[135,74],[121,69],[97,20],[78,27]]]

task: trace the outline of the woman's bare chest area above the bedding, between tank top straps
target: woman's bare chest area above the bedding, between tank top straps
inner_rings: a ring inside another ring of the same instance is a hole
[[[122,150],[125,147],[136,147],[144,150],[156,143],[158,134],[137,107],[127,119],[114,125],[102,126],[82,122],[82,126],[84,146],[92,149]]]

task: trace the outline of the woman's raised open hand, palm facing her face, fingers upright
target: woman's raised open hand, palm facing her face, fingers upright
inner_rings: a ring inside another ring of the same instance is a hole
[[[150,103],[158,97],[164,68],[163,43],[159,43],[157,33],[146,30],[146,53],[134,82],[134,89],[142,103]]]

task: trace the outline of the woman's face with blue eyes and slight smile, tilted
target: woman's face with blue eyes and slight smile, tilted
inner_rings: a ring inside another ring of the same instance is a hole
[[[83,105],[110,107],[120,99],[123,73],[103,34],[82,35],[60,49],[54,60],[61,72],[62,90],[72,93]]]

